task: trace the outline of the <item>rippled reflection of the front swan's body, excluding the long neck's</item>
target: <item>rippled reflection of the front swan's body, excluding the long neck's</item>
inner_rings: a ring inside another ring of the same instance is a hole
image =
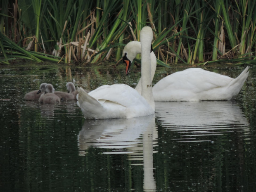
[[[142,155],[143,143],[151,140],[154,147],[156,138],[154,115],[131,119],[85,119],[78,135],[78,143],[82,156],[92,146],[111,149],[111,152],[104,152],[105,154],[126,153],[138,157],[137,155]]]

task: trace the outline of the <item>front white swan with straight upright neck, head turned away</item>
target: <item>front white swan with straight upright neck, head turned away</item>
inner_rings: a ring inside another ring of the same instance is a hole
[[[152,29],[142,28],[140,32],[142,94],[124,84],[103,85],[89,93],[83,88],[78,88],[77,104],[86,119],[131,118],[154,114],[150,66],[152,39]]]

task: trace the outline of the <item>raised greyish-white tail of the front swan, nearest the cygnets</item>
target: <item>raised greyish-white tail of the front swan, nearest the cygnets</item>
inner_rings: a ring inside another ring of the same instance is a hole
[[[99,111],[103,111],[103,106],[95,98],[88,95],[83,88],[77,88],[78,95],[76,95],[77,105],[81,108],[83,115],[94,119],[93,114],[97,114]]]

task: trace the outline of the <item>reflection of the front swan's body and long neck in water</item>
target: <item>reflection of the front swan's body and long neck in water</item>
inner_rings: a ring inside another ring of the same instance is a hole
[[[85,155],[86,149],[92,146],[113,149],[104,154],[125,153],[131,161],[143,160],[143,189],[154,192],[153,147],[157,145],[157,137],[154,115],[130,119],[85,119],[78,134],[79,154]]]

